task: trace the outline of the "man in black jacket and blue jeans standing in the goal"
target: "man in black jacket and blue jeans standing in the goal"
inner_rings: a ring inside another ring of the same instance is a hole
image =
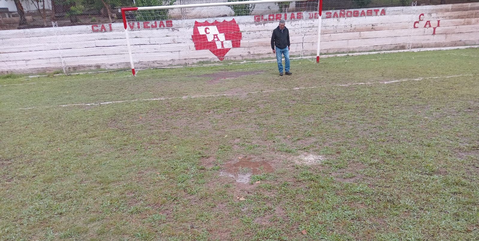
[[[285,21],[279,21],[279,26],[273,30],[271,36],[271,48],[273,54],[276,54],[276,61],[278,62],[279,75],[283,76],[283,55],[285,55],[285,74],[292,75],[289,72],[289,31],[285,27]]]

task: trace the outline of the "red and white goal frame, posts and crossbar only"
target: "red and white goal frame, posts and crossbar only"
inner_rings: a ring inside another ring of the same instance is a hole
[[[160,10],[160,9],[177,9],[177,8],[195,8],[195,7],[214,7],[214,6],[232,6],[243,4],[259,4],[259,3],[275,3],[285,2],[285,0],[250,0],[250,1],[235,1],[235,2],[214,2],[214,3],[197,3],[197,4],[182,4],[182,5],[168,5],[168,6],[151,6],[151,7],[133,7],[122,8],[121,14],[123,17],[123,26],[125,27],[126,45],[128,48],[128,55],[130,58],[131,72],[133,76],[136,76],[135,65],[133,63],[133,55],[131,52],[130,39],[128,36],[128,28],[126,23],[125,11],[141,11],[141,10]],[[318,50],[316,52],[316,62],[319,63],[319,41],[321,38],[321,11],[323,6],[323,0],[319,0],[319,18],[318,18]]]

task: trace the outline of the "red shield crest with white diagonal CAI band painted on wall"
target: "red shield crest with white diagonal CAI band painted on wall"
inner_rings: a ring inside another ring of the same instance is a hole
[[[211,23],[195,21],[191,38],[196,50],[207,49],[222,61],[231,48],[239,48],[242,34],[235,19]]]

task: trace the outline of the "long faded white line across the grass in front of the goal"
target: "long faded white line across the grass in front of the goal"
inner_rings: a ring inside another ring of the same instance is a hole
[[[424,79],[438,79],[438,78],[454,78],[454,77],[465,77],[465,76],[475,76],[476,74],[470,75],[455,75],[455,76],[443,76],[443,77],[419,77],[411,79],[400,79],[400,80],[391,80],[384,82],[367,82],[367,83],[351,83],[351,84],[342,84],[342,85],[327,85],[327,86],[354,86],[354,85],[374,85],[374,84],[392,84],[402,81],[410,80],[424,80]],[[194,99],[194,98],[208,98],[208,97],[219,97],[219,96],[244,96],[248,94],[259,94],[259,93],[272,93],[280,91],[290,91],[290,90],[301,90],[301,89],[314,89],[314,88],[324,88],[325,86],[312,86],[312,87],[296,87],[296,88],[283,88],[283,89],[273,89],[273,90],[261,90],[261,91],[252,91],[248,93],[238,93],[238,94],[212,94],[212,95],[194,95],[194,96],[182,96],[182,97],[164,97],[164,98],[152,98],[152,99],[132,99],[132,100],[117,100],[117,101],[107,101],[107,102],[98,102],[98,103],[84,103],[84,104],[66,104],[66,105],[51,105],[51,106],[36,106],[29,108],[19,108],[17,110],[29,110],[36,108],[53,108],[53,107],[69,107],[69,106],[97,106],[97,105],[107,105],[115,103],[124,103],[124,102],[135,102],[135,101],[155,101],[155,100],[167,100],[167,99]]]

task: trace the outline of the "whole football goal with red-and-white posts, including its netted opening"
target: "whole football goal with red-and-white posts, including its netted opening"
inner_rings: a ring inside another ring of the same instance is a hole
[[[285,0],[179,2],[121,9],[134,76],[136,64],[145,68],[271,59],[271,33],[280,20],[290,30],[291,55],[316,54],[319,62],[322,0],[309,9],[297,9]]]

